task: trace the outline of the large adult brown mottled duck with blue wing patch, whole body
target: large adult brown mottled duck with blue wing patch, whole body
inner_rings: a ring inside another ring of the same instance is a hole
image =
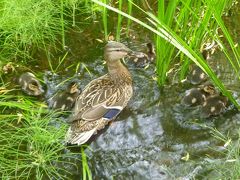
[[[124,44],[109,41],[104,48],[108,73],[92,80],[77,97],[66,144],[82,145],[97,131],[116,119],[127,106],[133,94],[132,77],[121,59],[133,51]]]

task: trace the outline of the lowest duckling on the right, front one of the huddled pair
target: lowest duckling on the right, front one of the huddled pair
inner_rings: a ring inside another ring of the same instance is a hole
[[[203,104],[202,114],[205,118],[221,114],[227,105],[228,98],[220,94],[210,96]]]

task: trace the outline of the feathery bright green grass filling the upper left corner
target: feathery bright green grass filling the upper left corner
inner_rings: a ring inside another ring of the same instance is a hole
[[[38,49],[64,49],[66,32],[76,26],[76,16],[89,11],[86,0],[2,0],[0,61],[20,59],[26,64]]]

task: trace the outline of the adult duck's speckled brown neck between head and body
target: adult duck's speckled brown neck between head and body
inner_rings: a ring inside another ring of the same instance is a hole
[[[120,60],[107,62],[108,73],[110,78],[116,83],[132,83],[131,74],[128,69],[121,63]]]

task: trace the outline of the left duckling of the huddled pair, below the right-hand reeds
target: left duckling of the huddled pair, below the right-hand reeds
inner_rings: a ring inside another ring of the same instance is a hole
[[[215,93],[216,89],[214,85],[210,82],[206,82],[199,87],[187,90],[182,102],[187,106],[202,105],[208,96],[214,95]]]

